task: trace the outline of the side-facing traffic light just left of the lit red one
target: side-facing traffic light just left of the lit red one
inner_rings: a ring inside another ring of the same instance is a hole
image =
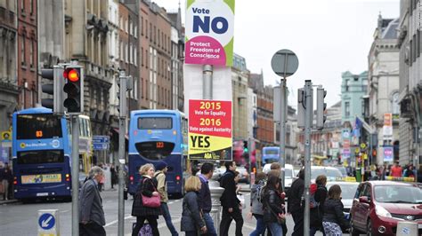
[[[61,66],[54,66],[53,68],[41,69],[41,76],[53,83],[46,83],[41,86],[41,90],[48,94],[50,98],[42,98],[41,106],[53,109],[54,114],[63,114],[64,109],[61,106],[63,100],[63,93],[61,87],[64,82],[61,80],[61,73],[63,69]],[[53,98],[51,98],[53,96]]]

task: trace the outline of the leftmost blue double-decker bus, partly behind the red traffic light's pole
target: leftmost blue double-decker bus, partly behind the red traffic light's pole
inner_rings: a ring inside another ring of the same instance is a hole
[[[89,117],[79,115],[79,167],[91,168],[92,135]],[[71,130],[65,117],[45,107],[12,116],[14,197],[71,199]]]

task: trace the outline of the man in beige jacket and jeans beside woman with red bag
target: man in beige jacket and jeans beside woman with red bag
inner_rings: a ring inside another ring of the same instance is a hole
[[[157,190],[161,197],[161,212],[163,213],[164,219],[166,220],[166,225],[168,230],[172,233],[172,236],[178,236],[179,233],[175,230],[172,223],[172,216],[170,216],[170,211],[168,210],[167,201],[167,182],[166,182],[166,173],[167,173],[167,163],[165,161],[158,161],[156,164],[155,178],[157,179],[158,185]]]

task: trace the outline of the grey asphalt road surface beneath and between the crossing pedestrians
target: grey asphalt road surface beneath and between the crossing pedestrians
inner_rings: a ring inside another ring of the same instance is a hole
[[[243,185],[245,190],[248,189],[248,185]],[[243,192],[245,195],[246,205],[249,205],[249,194]],[[101,193],[103,207],[106,217],[105,229],[108,235],[118,235],[118,192],[117,191],[105,191]],[[131,216],[132,200],[129,198],[125,201],[125,235],[131,235],[132,225],[135,222],[135,218]],[[180,231],[180,221],[182,216],[182,202],[180,200],[170,200],[168,207],[173,218],[173,223],[176,230]],[[20,202],[14,204],[7,204],[0,206],[0,232],[2,235],[34,235],[37,232],[37,211],[39,209],[59,209],[60,212],[60,230],[61,235],[71,234],[71,203],[70,202],[39,202],[22,204]],[[249,207],[243,210],[243,218],[245,223],[243,224],[243,234],[249,235],[255,229],[256,220],[255,218],[248,218]],[[291,216],[288,216],[288,235],[293,231],[293,220]],[[166,228],[166,223],[163,217],[158,219],[158,229],[161,235],[170,235],[170,232]],[[235,223],[233,221],[229,235],[234,235]],[[183,234],[181,234],[183,235]],[[321,232],[316,235],[322,235]]]

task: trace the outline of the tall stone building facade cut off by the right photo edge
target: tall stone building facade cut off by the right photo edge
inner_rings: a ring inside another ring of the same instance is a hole
[[[418,1],[400,1],[400,162],[422,163],[422,60]]]

